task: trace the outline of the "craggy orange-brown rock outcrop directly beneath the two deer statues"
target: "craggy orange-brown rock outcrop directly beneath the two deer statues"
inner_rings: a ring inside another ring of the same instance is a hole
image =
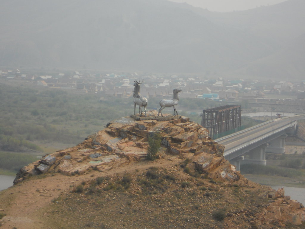
[[[41,173],[84,174],[141,161],[146,158],[148,137],[153,132],[162,137],[159,158],[191,158],[191,167],[211,179],[247,183],[224,159],[224,147],[214,142],[201,125],[183,116],[159,117],[157,111],[147,114],[148,117],[131,115],[109,122],[105,129],[88,136],[81,144],[46,155],[23,167],[14,183]]]

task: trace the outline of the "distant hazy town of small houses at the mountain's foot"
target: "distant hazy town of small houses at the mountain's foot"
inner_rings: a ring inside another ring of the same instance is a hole
[[[42,71],[40,71],[42,72]],[[252,79],[201,78],[199,76],[146,75],[133,73],[89,74],[78,71],[69,73],[28,73],[19,69],[0,70],[2,82],[32,84],[41,87],[74,90],[79,93],[99,93],[101,100],[109,96],[132,96],[134,80],[140,81],[141,94],[146,98],[170,98],[174,88],[182,89],[180,98],[213,100],[226,104],[247,103],[257,111],[305,111],[305,80],[264,81]],[[244,107],[249,108],[249,107]],[[275,115],[275,114],[274,114]]]

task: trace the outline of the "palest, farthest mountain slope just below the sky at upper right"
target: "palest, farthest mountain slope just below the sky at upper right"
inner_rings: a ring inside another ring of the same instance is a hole
[[[284,45],[305,33],[305,1],[289,0],[245,11],[215,13],[191,7],[218,25],[238,29],[263,39],[268,45]]]

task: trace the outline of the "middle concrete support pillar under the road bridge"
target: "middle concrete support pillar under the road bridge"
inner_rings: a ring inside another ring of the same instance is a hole
[[[263,144],[259,147],[250,150],[246,153],[245,158],[241,161],[241,164],[259,164],[266,165],[266,147],[268,144]]]

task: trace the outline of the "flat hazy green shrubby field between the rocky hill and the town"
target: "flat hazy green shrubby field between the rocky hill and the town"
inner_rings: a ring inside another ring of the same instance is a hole
[[[19,153],[15,157],[16,171],[37,158],[33,155],[44,155],[43,145],[58,144],[74,146],[85,137],[103,129],[105,125],[123,116],[133,114],[132,98],[114,98],[100,93],[84,93],[77,90],[62,90],[34,85],[0,84],[0,155],[2,164],[7,164],[9,154]],[[159,109],[159,98],[149,98],[147,110]],[[179,115],[190,117],[192,121],[201,123],[198,113],[211,107],[222,106],[214,101],[203,99],[180,99]],[[172,109],[164,110],[172,113]],[[138,107],[136,108],[138,112]],[[253,119],[243,118],[243,125],[252,126]],[[4,156],[6,155],[6,156]],[[16,155],[16,154],[15,154]],[[13,157],[13,154],[12,154]],[[28,157],[28,160],[21,158]],[[19,159],[20,158],[20,159]],[[22,163],[19,163],[22,162]],[[8,169],[0,164],[0,169]],[[17,166],[18,165],[18,166]]]

